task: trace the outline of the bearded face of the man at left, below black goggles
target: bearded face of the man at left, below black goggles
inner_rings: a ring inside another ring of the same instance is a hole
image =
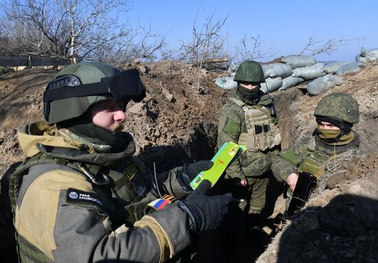
[[[93,124],[107,130],[122,130],[126,115],[120,105],[113,100],[104,100],[91,107]]]

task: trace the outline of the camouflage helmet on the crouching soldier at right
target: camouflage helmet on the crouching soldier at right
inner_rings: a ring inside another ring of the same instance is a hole
[[[359,122],[359,107],[357,101],[351,95],[333,93],[320,100],[313,115],[315,117],[328,117],[338,122],[356,124]]]

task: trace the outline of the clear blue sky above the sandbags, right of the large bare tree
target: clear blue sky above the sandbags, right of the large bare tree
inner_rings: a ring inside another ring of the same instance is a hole
[[[204,21],[210,12],[228,19],[222,33],[229,36],[230,48],[247,36],[261,38],[261,49],[271,57],[298,54],[316,35],[329,39],[355,39],[335,54],[315,56],[317,60],[355,60],[362,46],[378,48],[378,1],[375,0],[135,0],[128,12],[131,23],[151,23],[153,30],[167,34],[171,48],[188,40],[196,14]]]

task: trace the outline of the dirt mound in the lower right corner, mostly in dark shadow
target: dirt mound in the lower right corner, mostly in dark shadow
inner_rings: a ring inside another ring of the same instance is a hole
[[[378,262],[378,155],[362,179],[315,194],[260,255],[267,262]]]

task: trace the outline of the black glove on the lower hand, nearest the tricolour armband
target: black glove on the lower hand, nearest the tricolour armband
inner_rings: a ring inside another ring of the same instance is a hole
[[[232,194],[207,196],[206,192],[210,187],[210,181],[203,180],[197,189],[188,195],[184,203],[179,203],[179,207],[186,211],[190,218],[192,231],[216,229],[228,212]]]

